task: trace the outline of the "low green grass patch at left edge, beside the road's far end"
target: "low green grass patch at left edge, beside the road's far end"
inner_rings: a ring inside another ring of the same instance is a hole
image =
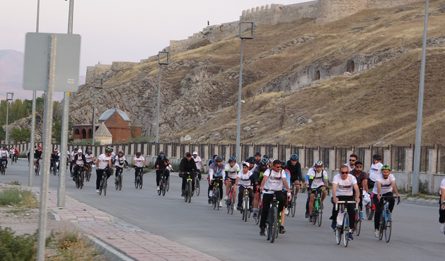
[[[18,188],[6,188],[0,192],[0,206],[37,208],[39,203],[35,193]]]

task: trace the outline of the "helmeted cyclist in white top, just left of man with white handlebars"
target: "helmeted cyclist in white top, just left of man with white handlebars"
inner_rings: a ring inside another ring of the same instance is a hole
[[[349,172],[348,172],[349,173]],[[325,189],[327,188],[327,173],[323,171],[323,161],[315,162],[315,171],[309,174],[309,187],[311,191],[309,199],[309,222],[312,222],[312,207],[314,207],[314,198],[316,190],[314,189]],[[326,191],[321,191],[321,209],[323,209],[323,201],[326,198]]]

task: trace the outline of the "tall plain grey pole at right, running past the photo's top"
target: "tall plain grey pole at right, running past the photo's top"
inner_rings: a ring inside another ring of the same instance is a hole
[[[412,194],[419,193],[420,150],[422,144],[423,121],[423,86],[425,85],[426,35],[428,29],[428,3],[425,3],[425,21],[423,22],[422,62],[420,69],[419,102],[417,104],[416,145],[414,146],[414,172],[412,173]]]

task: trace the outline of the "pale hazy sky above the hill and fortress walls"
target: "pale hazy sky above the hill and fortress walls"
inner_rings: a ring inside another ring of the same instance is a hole
[[[301,3],[307,0],[280,0]],[[38,0],[0,0],[0,49],[24,52],[25,34],[35,32]],[[40,0],[40,33],[67,33],[70,1]],[[147,58],[210,24],[237,21],[242,10],[270,4],[259,0],[74,0],[73,33],[80,34],[81,68]]]

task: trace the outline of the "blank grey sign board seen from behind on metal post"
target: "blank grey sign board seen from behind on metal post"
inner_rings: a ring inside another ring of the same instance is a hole
[[[52,35],[56,36],[54,91],[76,92],[81,55],[81,35],[78,34],[26,33],[23,88],[47,90]]]

